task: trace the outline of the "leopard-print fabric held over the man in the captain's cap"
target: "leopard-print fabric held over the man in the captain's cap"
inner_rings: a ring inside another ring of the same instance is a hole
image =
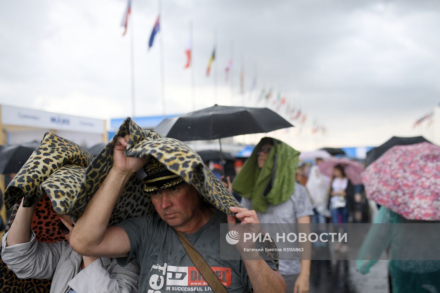
[[[186,144],[176,139],[165,138],[154,131],[140,128],[130,118],[125,119],[115,136],[88,166],[81,190],[73,200],[67,212],[79,217],[87,202],[103,183],[113,165],[113,147],[118,136],[129,135],[125,150],[127,157],[155,157],[171,172],[183,177],[192,184],[207,202],[227,214],[229,206],[241,206],[229,193],[224,185],[205,167],[200,156]],[[154,212],[150,197],[143,191],[143,184],[133,175],[122,192],[120,200],[113,211],[110,224],[135,216],[143,216]]]

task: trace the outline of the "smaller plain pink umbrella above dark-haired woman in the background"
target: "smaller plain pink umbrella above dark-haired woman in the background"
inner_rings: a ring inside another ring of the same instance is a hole
[[[352,184],[362,184],[360,174],[363,171],[363,166],[356,161],[352,161],[346,158],[331,157],[321,162],[318,167],[319,171],[330,178],[333,177],[334,166],[341,165],[344,168],[345,175],[352,182]]]

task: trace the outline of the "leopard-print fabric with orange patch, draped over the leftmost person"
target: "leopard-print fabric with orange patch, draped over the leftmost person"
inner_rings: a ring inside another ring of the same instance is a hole
[[[46,133],[40,146],[5,191],[6,206],[15,205],[5,231],[11,227],[19,202],[24,197],[24,206],[32,206],[38,201],[31,222],[37,241],[64,240],[55,210],[61,214],[68,209],[71,199],[79,190],[85,167],[91,161],[92,156],[82,147]],[[19,279],[6,264],[0,262],[1,292],[49,292],[50,286],[51,280]]]

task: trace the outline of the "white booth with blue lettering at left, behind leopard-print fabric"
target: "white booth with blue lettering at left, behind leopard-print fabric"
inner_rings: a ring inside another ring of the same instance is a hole
[[[1,144],[40,141],[45,132],[62,136],[82,147],[107,142],[106,121],[40,110],[1,107]]]

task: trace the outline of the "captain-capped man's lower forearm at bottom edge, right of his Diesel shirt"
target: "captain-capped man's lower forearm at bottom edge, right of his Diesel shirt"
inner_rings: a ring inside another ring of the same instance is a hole
[[[254,293],[286,292],[286,282],[279,271],[272,270],[260,255],[255,255],[253,260],[243,260],[243,262]]]

